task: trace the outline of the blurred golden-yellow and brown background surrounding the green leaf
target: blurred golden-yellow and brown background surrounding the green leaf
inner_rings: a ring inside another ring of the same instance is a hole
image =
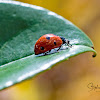
[[[0,100],[100,100],[100,0],[19,1],[42,6],[70,20],[91,38],[98,55],[92,58],[88,52],[57,64],[0,91]],[[91,90],[91,82],[98,87]]]

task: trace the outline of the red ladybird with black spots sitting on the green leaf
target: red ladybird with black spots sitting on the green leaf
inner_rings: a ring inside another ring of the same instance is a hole
[[[34,52],[35,55],[41,53],[44,53],[46,55],[54,48],[58,48],[57,51],[60,50],[63,44],[67,44],[69,46],[69,41],[61,36],[57,36],[54,34],[45,34],[37,40],[34,46]]]

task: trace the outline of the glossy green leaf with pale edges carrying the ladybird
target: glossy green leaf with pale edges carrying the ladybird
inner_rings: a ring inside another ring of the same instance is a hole
[[[72,48],[34,55],[35,42],[48,33],[70,40]],[[89,51],[96,55],[87,35],[60,15],[39,6],[0,1],[0,90]]]

